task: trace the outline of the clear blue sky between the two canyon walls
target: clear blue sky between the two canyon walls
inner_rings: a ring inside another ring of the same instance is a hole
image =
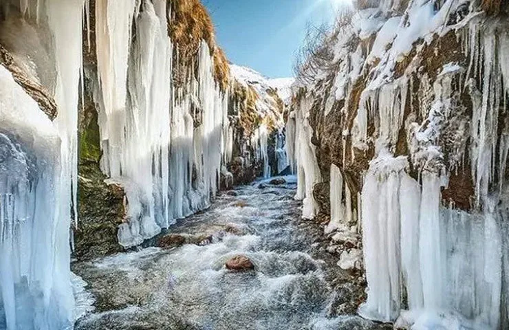
[[[269,78],[293,76],[307,23],[330,22],[346,0],[202,0],[228,59]]]

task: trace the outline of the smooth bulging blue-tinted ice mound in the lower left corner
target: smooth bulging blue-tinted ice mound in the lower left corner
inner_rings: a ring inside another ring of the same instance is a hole
[[[0,82],[0,328],[67,329],[74,298],[65,142],[1,65]]]

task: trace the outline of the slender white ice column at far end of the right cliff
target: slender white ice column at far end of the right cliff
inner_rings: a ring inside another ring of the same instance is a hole
[[[294,112],[294,137],[288,138],[288,143],[294,144],[294,153],[290,150],[290,159],[296,159],[297,193],[295,198],[303,200],[302,216],[313,219],[318,213],[319,206],[313,196],[314,185],[321,180],[320,168],[315,156],[315,146],[311,142],[312,127],[307,115],[312,107],[311,98],[303,98]],[[290,125],[292,125],[291,123]],[[291,131],[292,127],[288,131]],[[290,132],[288,133],[290,135]],[[294,140],[292,140],[294,139]],[[291,162],[290,162],[291,164]]]

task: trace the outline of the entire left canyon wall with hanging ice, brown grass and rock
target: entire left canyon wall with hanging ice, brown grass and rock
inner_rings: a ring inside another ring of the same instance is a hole
[[[2,1],[0,328],[72,328],[71,252],[135,247],[270,175],[268,89],[230,74],[198,0]]]

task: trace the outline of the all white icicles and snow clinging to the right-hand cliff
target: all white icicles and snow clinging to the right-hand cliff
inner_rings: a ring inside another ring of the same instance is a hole
[[[385,21],[377,14],[393,12],[399,5],[400,1],[381,1],[378,8],[357,14],[362,23],[352,23],[358,27],[356,37],[378,31],[371,50],[362,45],[351,50],[349,36],[335,50],[336,58],[338,54],[347,58],[334,81],[332,94],[337,99],[349,102],[346,95],[362,65],[375,65],[370,67],[371,80],[360,96],[353,128],[343,132],[343,137],[351,135],[352,148],[367,150],[373,143],[376,149],[357,206],[368,283],[367,302],[359,313],[397,321],[398,327],[407,329],[506,329],[509,126],[499,118],[509,113],[508,22],[471,11],[456,25],[447,25],[449,13],[468,5],[472,10],[475,1],[440,1],[435,8],[433,1],[417,0],[410,2],[403,17]],[[404,120],[405,109],[414,112],[415,103],[406,102],[414,92],[411,74],[420,64],[414,61],[402,76],[391,78],[398,58],[409,54],[418,39],[429,43],[433,34],[443,36],[451,30],[463,45],[458,51],[469,59],[468,66],[447,63],[434,80],[420,72],[418,106],[424,122],[415,122],[415,114]],[[462,91],[470,94],[471,114],[457,102]],[[320,181],[307,121],[312,97],[309,93],[294,104],[287,124],[287,150],[299,177],[297,197],[304,199],[303,217],[316,214],[312,186]],[[371,136],[370,122],[375,126]],[[409,155],[396,157],[402,129]],[[446,156],[441,143],[448,148]],[[442,188],[453,171],[464,170],[464,162],[471,164],[474,179],[472,212],[442,206]],[[418,180],[410,176],[410,166],[417,170]],[[327,232],[351,225],[356,217],[356,212],[351,214],[349,187],[334,164],[330,184],[332,219]]]

